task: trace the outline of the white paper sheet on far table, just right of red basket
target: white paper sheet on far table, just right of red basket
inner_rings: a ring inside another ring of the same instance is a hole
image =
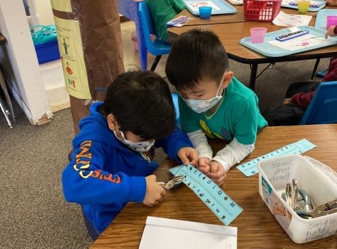
[[[308,26],[311,18],[311,15],[286,14],[280,11],[273,20],[273,24],[277,26]]]

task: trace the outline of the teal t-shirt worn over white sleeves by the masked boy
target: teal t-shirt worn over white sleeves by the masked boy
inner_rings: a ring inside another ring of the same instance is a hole
[[[257,132],[268,126],[257,103],[255,92],[233,77],[212,115],[208,111],[194,112],[179,96],[181,129],[183,132],[202,129],[211,138],[231,141],[235,137],[240,144],[254,144]]]

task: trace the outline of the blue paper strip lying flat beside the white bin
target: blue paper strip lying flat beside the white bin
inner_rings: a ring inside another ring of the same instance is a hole
[[[282,148],[279,148],[276,151],[272,151],[271,153],[268,153],[266,155],[256,157],[255,159],[246,162],[244,164],[240,164],[239,166],[237,166],[237,169],[239,169],[239,171],[242,171],[244,175],[250,177],[258,173],[257,164],[262,160],[278,157],[280,155],[302,154],[306,151],[310,151],[315,147],[316,145],[311,144],[311,142],[308,141],[307,139],[301,139],[300,141],[296,141],[293,144],[288,144]]]

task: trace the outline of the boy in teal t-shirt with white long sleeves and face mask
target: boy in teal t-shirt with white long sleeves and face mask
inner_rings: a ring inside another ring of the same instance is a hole
[[[176,38],[165,69],[179,91],[181,129],[199,152],[199,169],[219,185],[254,150],[257,132],[267,126],[256,94],[227,69],[219,37],[200,30]],[[230,143],[213,156],[206,136]]]

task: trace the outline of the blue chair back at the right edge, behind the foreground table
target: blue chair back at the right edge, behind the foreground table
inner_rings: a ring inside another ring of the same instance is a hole
[[[337,123],[337,81],[320,83],[299,124]]]

